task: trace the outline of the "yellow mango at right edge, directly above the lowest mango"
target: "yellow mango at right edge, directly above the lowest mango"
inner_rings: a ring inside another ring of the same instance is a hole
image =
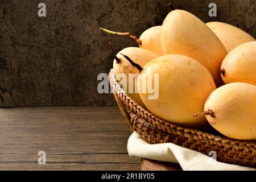
[[[225,84],[246,82],[256,85],[256,41],[243,43],[230,51],[220,72]]]

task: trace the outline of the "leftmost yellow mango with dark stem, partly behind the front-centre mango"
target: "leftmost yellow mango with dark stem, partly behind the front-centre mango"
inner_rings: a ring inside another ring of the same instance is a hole
[[[127,77],[127,85],[122,85],[123,89],[127,90],[127,93],[131,98],[133,98],[134,101],[136,101],[139,105],[145,107],[141,100],[141,97],[139,96],[139,93],[135,93],[135,86],[137,87],[137,77],[133,78],[133,92],[129,92],[129,73],[139,73],[139,71],[136,67],[131,65],[131,63],[123,55],[121,55],[121,53],[130,57],[130,59],[133,60],[134,63],[137,63],[142,67],[152,59],[159,57],[159,55],[154,52],[148,51],[147,49],[142,49],[138,47],[127,47],[125,49],[122,49],[122,51],[118,52],[116,55],[120,62],[118,63],[118,61],[115,59],[113,62],[113,69],[115,75],[117,76],[119,73],[125,73]]]

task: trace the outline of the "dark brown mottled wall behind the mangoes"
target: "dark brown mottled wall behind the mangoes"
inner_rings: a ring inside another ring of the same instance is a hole
[[[38,17],[38,3],[47,17]],[[129,38],[106,35],[98,27],[139,36],[160,25],[167,0],[0,0],[0,106],[113,105],[111,94],[97,93],[97,75],[108,73],[116,51],[136,46]],[[171,1],[204,22],[238,26],[254,38],[255,0]],[[217,18],[208,16],[217,3]]]

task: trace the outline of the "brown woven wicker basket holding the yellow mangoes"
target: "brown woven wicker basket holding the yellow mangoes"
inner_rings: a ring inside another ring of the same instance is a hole
[[[174,143],[208,155],[215,151],[217,161],[256,168],[256,142],[223,138],[164,121],[133,101],[120,88],[113,69],[109,83],[119,109],[131,131],[136,131],[149,143]]]

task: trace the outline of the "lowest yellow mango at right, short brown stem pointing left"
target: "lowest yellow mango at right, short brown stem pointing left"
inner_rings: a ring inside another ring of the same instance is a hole
[[[234,82],[210,94],[204,107],[210,125],[226,137],[256,140],[256,86]]]

